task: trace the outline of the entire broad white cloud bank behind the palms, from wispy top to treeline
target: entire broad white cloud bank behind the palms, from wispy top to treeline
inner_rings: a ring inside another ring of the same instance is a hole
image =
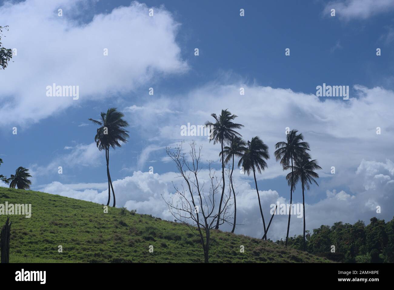
[[[209,143],[205,136],[180,136],[180,126],[187,123],[202,125],[209,119],[210,113],[219,113],[227,107],[223,104],[231,104],[229,110],[239,116],[236,121],[245,125],[240,130],[243,138],[247,140],[258,135],[269,146],[271,159],[268,161],[268,169],[257,175],[258,179],[276,178],[286,174],[279,162],[273,158],[275,143],[285,139],[286,127],[298,129],[310,143],[312,157],[323,167],[319,175],[330,178],[319,180],[320,189],[326,192],[326,197],[314,204],[307,200],[307,229],[312,230],[322,224],[332,225],[336,221],[354,223],[363,219],[368,222],[372,216],[392,218],[392,91],[381,87],[354,86],[349,100],[342,100],[333,97],[319,98],[290,89],[246,84],[242,87],[245,88],[245,95],[240,95],[240,85],[234,83],[207,84],[184,95],[184,102],[178,102],[179,96],[161,96],[155,99],[154,103],[147,101],[140,106],[131,106],[126,117],[132,120],[140,132],[147,136],[156,136],[160,141],[155,143],[152,140],[151,145],[141,152],[138,166],[144,168],[150,154],[159,152],[164,145],[174,147],[182,139],[185,139],[186,143],[196,139],[197,143],[204,147],[201,160],[214,160],[217,162],[214,165],[220,168],[220,145]],[[156,110],[150,110],[151,108]],[[163,113],[158,113],[157,110]],[[381,128],[381,134],[376,134],[377,127]],[[91,146],[98,154],[95,145]],[[169,161],[164,156],[163,151],[162,161]],[[336,174],[331,174],[332,166],[335,166]],[[171,172],[159,175],[135,171],[132,176],[115,180],[113,185],[117,205],[126,206],[128,209],[137,208],[140,213],[172,220],[162,196],[169,199],[174,194],[171,182],[179,182],[179,178],[175,177],[175,173]],[[236,174],[234,178],[238,191],[237,220],[242,224],[236,232],[261,237],[263,228],[253,177]],[[104,204],[108,198],[105,184],[102,184],[102,187],[82,184],[66,185],[66,188],[63,186],[52,183],[44,186],[43,191]],[[299,189],[294,194],[299,196]],[[260,198],[267,221],[270,204],[276,201],[289,202],[288,190],[281,192],[272,186],[260,188]],[[377,206],[381,206],[380,215],[376,212]],[[228,230],[229,227],[223,226],[222,229]],[[283,238],[286,227],[287,217],[275,216],[269,238]],[[302,227],[302,219],[292,218],[290,234],[301,234]]]

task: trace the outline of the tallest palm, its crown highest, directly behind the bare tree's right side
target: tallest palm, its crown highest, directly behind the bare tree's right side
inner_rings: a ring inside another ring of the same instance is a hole
[[[215,123],[210,121],[205,122],[205,126],[212,126],[213,130],[211,132],[212,139],[214,140],[214,144],[220,143],[221,144],[221,161],[222,161],[222,179],[223,179],[223,187],[222,187],[222,195],[220,198],[219,203],[219,212],[217,213],[217,222],[215,229],[219,229],[219,221],[220,221],[220,214],[221,214],[221,204],[223,202],[223,195],[225,189],[225,178],[224,178],[224,156],[223,156],[223,145],[224,142],[229,142],[230,139],[234,136],[242,137],[241,134],[235,131],[235,129],[240,129],[243,127],[241,124],[233,123],[237,115],[231,115],[231,113],[226,110],[222,110],[219,117],[215,113],[211,114],[212,117],[215,119]]]

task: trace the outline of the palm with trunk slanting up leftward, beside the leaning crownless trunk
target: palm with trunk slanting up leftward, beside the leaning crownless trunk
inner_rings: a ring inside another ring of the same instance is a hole
[[[267,162],[264,159],[269,159],[268,146],[256,136],[253,137],[251,141],[247,141],[247,147],[245,147],[244,153],[240,161],[238,162],[238,166],[242,164],[243,170],[246,171],[247,175],[249,175],[251,171],[253,171],[253,177],[255,178],[255,185],[258,197],[258,205],[260,206],[260,214],[261,218],[263,219],[264,236],[267,240],[266,222],[264,221],[263,210],[261,208],[260,194],[258,193],[255,172],[257,169],[258,173],[261,174],[261,171],[268,167]]]

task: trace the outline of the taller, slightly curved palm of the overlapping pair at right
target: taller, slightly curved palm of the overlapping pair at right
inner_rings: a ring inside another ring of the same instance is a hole
[[[300,133],[297,134],[297,130],[292,130],[289,134],[286,136],[286,142],[278,142],[275,145],[275,158],[276,160],[281,160],[281,164],[283,167],[283,170],[286,166],[290,165],[291,161],[291,168],[293,172],[293,159],[296,159],[299,156],[303,156],[307,154],[307,151],[309,150],[309,143],[308,142],[303,142],[304,136]],[[302,142],[301,142],[302,141]],[[293,176],[293,175],[292,175]],[[289,238],[289,229],[290,229],[290,214],[291,214],[291,208],[292,208],[292,202],[293,202],[293,178],[290,182],[290,211],[289,211],[289,220],[287,223],[287,234],[286,234],[286,243],[285,245],[287,246],[287,240]]]

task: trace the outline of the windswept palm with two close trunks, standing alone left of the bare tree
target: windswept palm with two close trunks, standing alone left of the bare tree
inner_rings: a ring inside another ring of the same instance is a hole
[[[89,119],[94,124],[99,125],[97,128],[97,134],[95,136],[95,141],[97,144],[97,148],[100,151],[105,150],[105,159],[107,162],[107,178],[108,178],[108,202],[107,205],[110,204],[111,199],[111,190],[113,195],[113,207],[115,207],[115,191],[113,190],[112,180],[110,175],[110,147],[115,149],[116,147],[121,147],[121,143],[126,143],[128,136],[128,131],[124,128],[128,126],[127,121],[123,120],[123,113],[118,112],[117,108],[109,108],[106,113],[101,112],[100,121]]]

